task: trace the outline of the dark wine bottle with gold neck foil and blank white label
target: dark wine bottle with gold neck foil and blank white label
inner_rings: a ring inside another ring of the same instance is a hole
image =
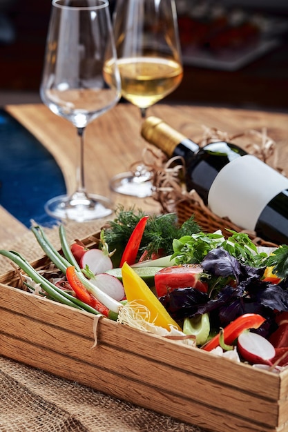
[[[288,179],[225,141],[200,148],[162,119],[148,117],[142,137],[168,157],[185,161],[187,190],[195,189],[219,217],[262,239],[288,244]]]

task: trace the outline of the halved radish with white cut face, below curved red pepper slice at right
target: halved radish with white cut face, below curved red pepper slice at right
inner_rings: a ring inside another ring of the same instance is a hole
[[[272,365],[271,360],[276,355],[275,348],[265,339],[265,337],[244,331],[238,337],[238,352],[244,360],[251,364],[269,364]]]

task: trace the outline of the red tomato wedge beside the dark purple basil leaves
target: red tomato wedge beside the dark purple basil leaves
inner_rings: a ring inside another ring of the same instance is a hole
[[[157,296],[162,297],[176,288],[197,288],[207,293],[208,284],[200,280],[202,273],[202,267],[196,264],[162,268],[154,277]]]

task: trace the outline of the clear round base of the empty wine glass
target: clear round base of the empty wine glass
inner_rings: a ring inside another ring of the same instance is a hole
[[[90,222],[111,215],[111,201],[99,195],[59,195],[46,202],[45,210],[55,219]]]

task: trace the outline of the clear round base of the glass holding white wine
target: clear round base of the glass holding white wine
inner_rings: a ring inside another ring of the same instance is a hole
[[[151,197],[153,184],[150,173],[146,175],[135,175],[132,172],[115,175],[110,181],[110,187],[114,192],[131,197]]]

